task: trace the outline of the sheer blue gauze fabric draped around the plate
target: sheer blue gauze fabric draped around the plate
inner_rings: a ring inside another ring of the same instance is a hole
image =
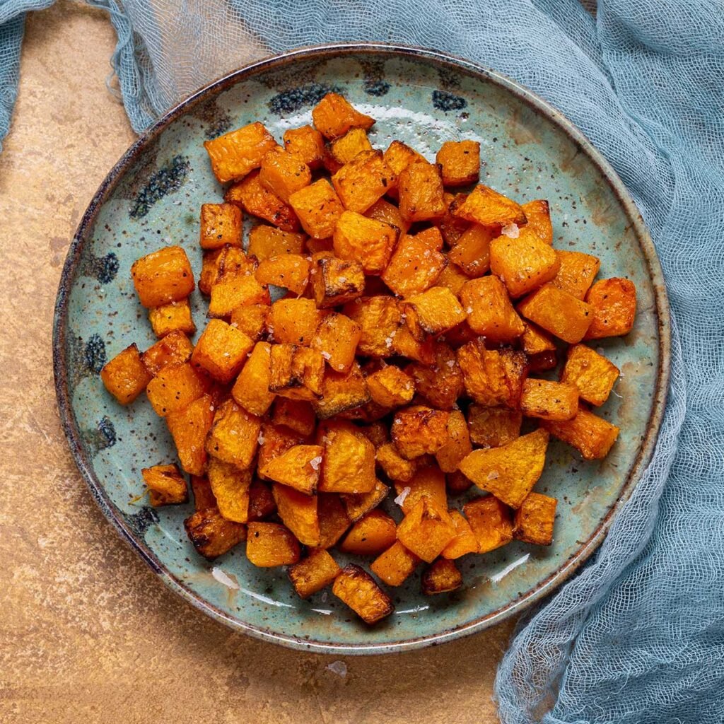
[[[0,0],[0,132],[22,13]],[[135,130],[251,56],[392,41],[529,86],[591,138],[652,232],[673,308],[654,460],[583,571],[519,624],[504,724],[724,722],[724,12],[716,0],[154,0],[96,4]],[[483,634],[484,635],[484,634]]]

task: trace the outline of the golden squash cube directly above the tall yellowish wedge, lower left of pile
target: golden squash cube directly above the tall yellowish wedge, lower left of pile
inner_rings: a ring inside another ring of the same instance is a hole
[[[206,452],[241,470],[247,470],[256,455],[261,419],[234,400],[226,400],[214,413],[214,425],[206,439]]]

